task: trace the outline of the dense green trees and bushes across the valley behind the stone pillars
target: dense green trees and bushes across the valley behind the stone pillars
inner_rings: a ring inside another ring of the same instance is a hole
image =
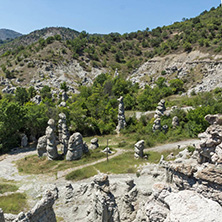
[[[124,96],[126,110],[154,110],[160,99],[183,90],[181,81],[176,83],[173,81],[167,86],[165,79],[161,77],[156,81],[156,87],[147,86],[142,90],[137,84],[133,85],[120,76],[112,78],[109,74],[101,74],[91,87],[82,86],[79,94],[70,96],[67,107],[57,106],[61,99],[52,96],[48,86],[40,91],[43,98],[40,105],[29,101],[36,93],[33,87],[17,88],[15,96],[4,95],[0,100],[0,151],[6,152],[19,146],[22,133],[36,138],[44,135],[48,119],[54,118],[58,121],[60,112],[67,115],[71,133],[79,131],[84,136],[115,133],[119,96]],[[61,87],[64,88],[65,84],[61,84]],[[171,97],[166,100],[167,105],[175,105]],[[179,105],[179,102],[181,105],[192,105],[196,109],[188,113],[176,109],[170,116],[164,116],[162,125],[166,124],[170,129],[167,133],[152,132],[154,120],[146,116],[142,116],[140,121],[134,116],[127,118],[127,128],[122,133],[134,133],[135,140],[145,139],[147,146],[154,145],[156,141],[195,137],[208,125],[204,116],[220,112],[221,89],[193,95],[191,98],[181,97],[176,104]],[[171,126],[174,115],[180,119],[180,126],[176,129]]]

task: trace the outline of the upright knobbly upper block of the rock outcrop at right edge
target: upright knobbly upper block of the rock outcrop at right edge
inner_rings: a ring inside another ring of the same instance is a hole
[[[222,116],[207,115],[211,124],[204,133],[198,135],[201,143],[197,146],[199,163],[222,164]]]

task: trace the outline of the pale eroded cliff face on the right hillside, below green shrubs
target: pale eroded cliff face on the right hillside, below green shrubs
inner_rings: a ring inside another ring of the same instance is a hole
[[[199,51],[155,57],[134,71],[128,79],[152,85],[158,77],[184,80],[188,94],[222,87],[222,56]]]

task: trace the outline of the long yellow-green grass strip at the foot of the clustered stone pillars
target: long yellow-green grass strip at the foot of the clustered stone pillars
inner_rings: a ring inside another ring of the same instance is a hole
[[[106,154],[101,152],[100,149],[91,150],[89,154],[83,155],[82,159],[75,161],[54,160],[50,161],[46,157],[39,158],[37,155],[25,157],[24,159],[16,162],[19,172],[25,174],[47,174],[56,173],[59,170],[77,167],[87,163],[106,157]]]

